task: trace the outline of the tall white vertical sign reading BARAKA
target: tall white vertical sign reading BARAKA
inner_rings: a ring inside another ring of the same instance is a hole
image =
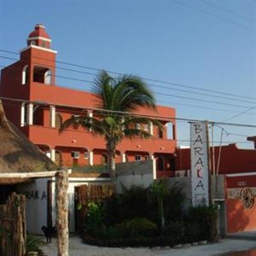
[[[206,123],[190,124],[192,204],[209,205]]]

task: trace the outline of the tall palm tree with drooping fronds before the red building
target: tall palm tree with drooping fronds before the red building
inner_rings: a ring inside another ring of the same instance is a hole
[[[111,179],[115,182],[115,153],[116,146],[123,138],[150,138],[152,135],[145,129],[139,129],[136,124],[163,125],[157,120],[147,117],[131,115],[138,107],[156,110],[156,100],[148,89],[147,84],[138,76],[120,76],[113,78],[102,71],[93,83],[92,92],[95,94],[95,111],[100,118],[90,116],[72,116],[62,125],[60,132],[71,125],[78,125],[90,129],[93,135],[104,136],[108,152],[108,169]]]

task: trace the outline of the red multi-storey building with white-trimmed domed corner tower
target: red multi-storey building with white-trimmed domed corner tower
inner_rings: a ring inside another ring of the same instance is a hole
[[[95,99],[90,92],[56,84],[56,54],[45,27],[37,24],[28,36],[27,46],[20,51],[20,60],[1,70],[0,97],[19,99],[3,100],[6,116],[59,166],[105,164],[108,156],[104,138],[77,127],[61,134],[58,131],[61,123],[72,115],[95,115]],[[138,113],[159,116],[157,119],[166,125],[166,130],[141,125],[154,137],[123,140],[117,147],[116,162],[154,158],[157,175],[172,176],[177,145],[175,121],[168,124],[170,119],[160,116],[173,118],[175,109],[157,106],[157,112],[141,108]]]

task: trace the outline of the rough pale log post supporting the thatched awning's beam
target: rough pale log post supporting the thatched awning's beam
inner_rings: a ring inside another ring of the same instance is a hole
[[[68,256],[68,172],[57,172],[55,177],[58,256]]]

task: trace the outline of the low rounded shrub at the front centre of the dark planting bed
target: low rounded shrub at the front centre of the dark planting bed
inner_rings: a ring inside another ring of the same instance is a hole
[[[157,225],[145,218],[134,218],[115,225],[122,237],[154,236]]]

